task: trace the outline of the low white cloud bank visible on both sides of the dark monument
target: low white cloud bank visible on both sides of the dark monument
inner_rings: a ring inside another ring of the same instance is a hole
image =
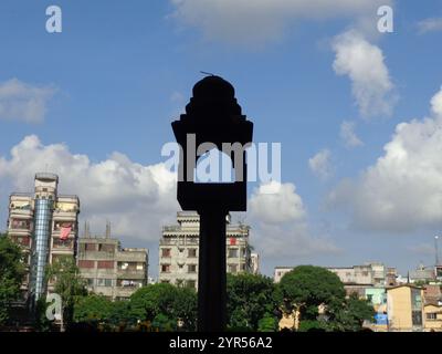
[[[60,176],[59,192],[78,195],[81,219],[91,222],[93,232],[103,233],[109,220],[115,237],[138,239],[143,241],[139,246],[147,246],[158,242],[164,225],[176,222],[180,210],[176,175],[164,164],[140,165],[122,153],[91,162],[87,155],[73,154],[64,144],[43,145],[38,136],[30,135],[12,147],[9,157],[0,156],[0,186],[31,191],[34,174],[46,166]],[[7,200],[0,205],[7,205]],[[294,185],[262,185],[249,205],[251,242],[264,258],[281,252],[306,256],[337,250],[328,239],[308,233],[306,210]]]

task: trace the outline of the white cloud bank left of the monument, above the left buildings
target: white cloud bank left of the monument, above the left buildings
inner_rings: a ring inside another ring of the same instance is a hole
[[[116,237],[157,241],[160,227],[179,210],[176,177],[162,164],[144,166],[120,153],[93,163],[64,144],[43,145],[34,135],[15,145],[10,158],[0,157],[0,183],[30,191],[34,174],[46,166],[60,176],[62,194],[78,195],[82,220],[93,230],[102,231],[110,220]]]

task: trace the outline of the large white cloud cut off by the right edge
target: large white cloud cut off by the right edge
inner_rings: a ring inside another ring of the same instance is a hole
[[[398,124],[385,154],[359,178],[341,181],[332,206],[349,212],[354,226],[414,231],[442,223],[442,90],[431,115]]]

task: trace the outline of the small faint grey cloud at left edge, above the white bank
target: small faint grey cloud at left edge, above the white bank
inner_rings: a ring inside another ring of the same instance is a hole
[[[0,119],[41,123],[48,102],[56,92],[52,85],[35,86],[17,79],[0,83]]]

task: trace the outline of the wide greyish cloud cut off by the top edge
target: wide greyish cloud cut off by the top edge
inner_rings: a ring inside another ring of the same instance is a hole
[[[371,19],[390,0],[171,0],[173,17],[202,31],[206,39],[234,44],[263,44],[281,39],[302,20]]]

